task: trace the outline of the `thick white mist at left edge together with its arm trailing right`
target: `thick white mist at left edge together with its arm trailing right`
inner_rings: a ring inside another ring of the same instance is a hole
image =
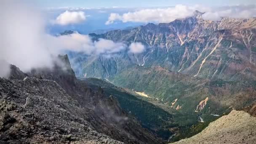
[[[67,50],[99,54],[115,53],[127,47],[111,40],[93,42],[88,35],[78,33],[59,37],[49,35],[44,16],[38,9],[16,0],[0,1],[0,59],[24,72],[31,68],[53,67],[55,56]],[[9,72],[6,63],[0,62],[0,67],[0,76],[6,76]]]

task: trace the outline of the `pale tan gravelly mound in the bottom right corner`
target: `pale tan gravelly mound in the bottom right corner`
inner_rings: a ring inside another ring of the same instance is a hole
[[[201,133],[174,144],[255,144],[256,117],[233,110],[210,123]]]

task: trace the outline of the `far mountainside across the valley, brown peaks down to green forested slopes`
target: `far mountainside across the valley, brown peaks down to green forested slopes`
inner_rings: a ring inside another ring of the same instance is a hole
[[[124,50],[111,56],[69,52],[75,75],[105,78],[174,117],[176,112],[187,115],[180,121],[188,123],[172,131],[170,141],[199,133],[232,108],[253,115],[256,18],[209,21],[202,14],[195,11],[194,16],[171,23],[89,34],[92,40],[140,42],[145,51]]]

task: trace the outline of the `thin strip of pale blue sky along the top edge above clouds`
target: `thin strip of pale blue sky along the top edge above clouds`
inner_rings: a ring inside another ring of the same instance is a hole
[[[38,0],[43,7],[163,7],[177,4],[223,6],[256,4],[256,0]]]

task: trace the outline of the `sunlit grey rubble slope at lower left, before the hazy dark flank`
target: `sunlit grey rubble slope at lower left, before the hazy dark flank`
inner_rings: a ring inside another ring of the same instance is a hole
[[[0,79],[0,142],[121,144],[81,118],[77,101],[54,81]],[[6,141],[6,142],[4,142]]]

